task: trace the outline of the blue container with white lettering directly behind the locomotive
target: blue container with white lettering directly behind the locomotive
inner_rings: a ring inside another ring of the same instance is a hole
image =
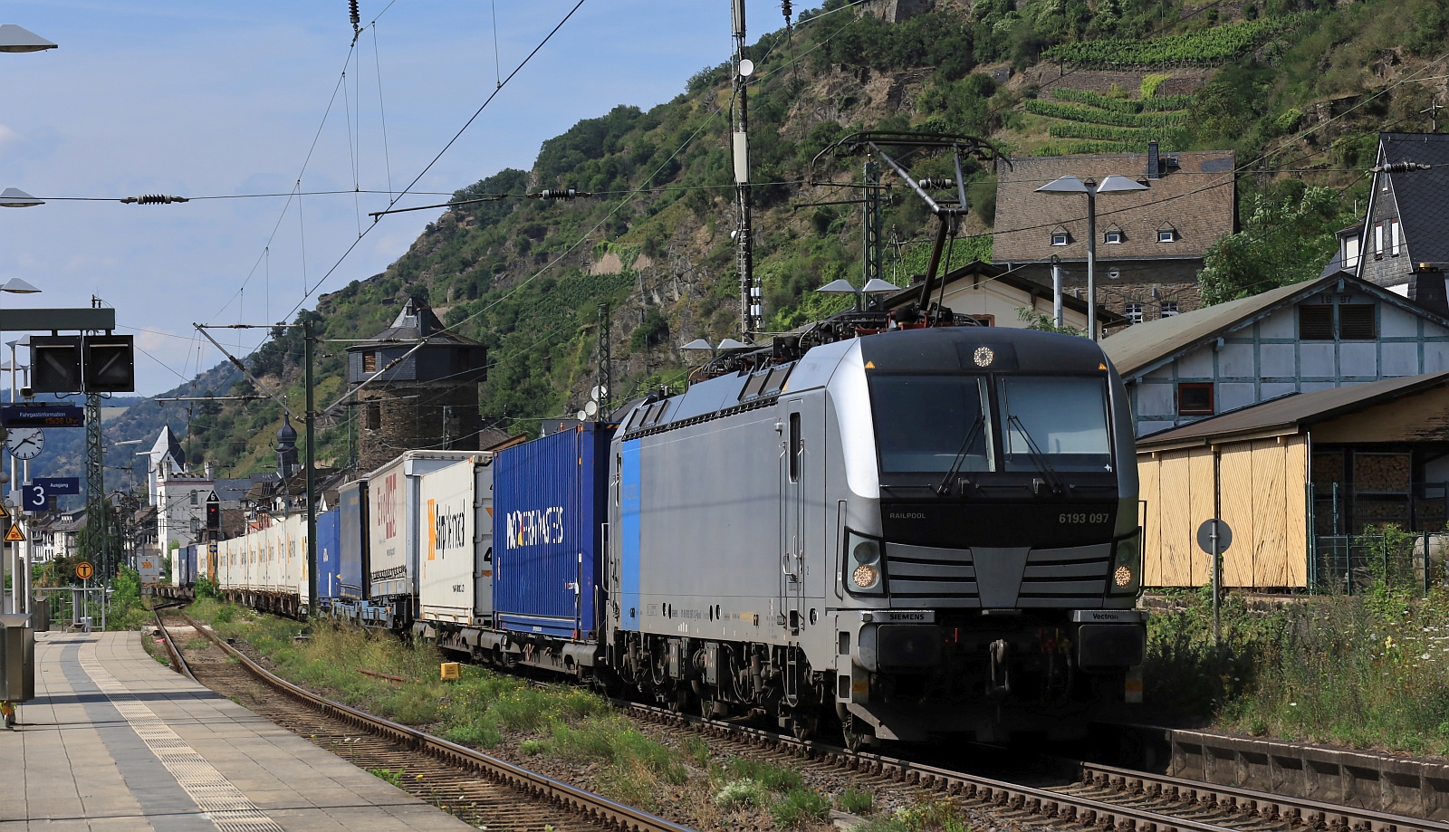
[[[597,633],[613,428],[581,422],[498,454],[493,609],[503,629],[574,639]]]

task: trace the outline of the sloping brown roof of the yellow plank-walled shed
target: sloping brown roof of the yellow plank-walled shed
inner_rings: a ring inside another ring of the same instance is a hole
[[[1427,375],[1384,378],[1366,384],[1345,384],[1333,390],[1294,393],[1271,399],[1250,407],[1201,419],[1182,428],[1171,428],[1137,438],[1137,451],[1166,446],[1191,446],[1208,441],[1230,439],[1235,435],[1297,433],[1308,425],[1326,422],[1345,413],[1355,413],[1374,404],[1449,384],[1449,370]]]

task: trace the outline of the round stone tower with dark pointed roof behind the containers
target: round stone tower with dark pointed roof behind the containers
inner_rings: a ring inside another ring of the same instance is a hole
[[[371,471],[404,451],[477,449],[487,375],[487,349],[410,299],[393,326],[348,346],[348,383],[372,380],[358,393],[358,467]]]

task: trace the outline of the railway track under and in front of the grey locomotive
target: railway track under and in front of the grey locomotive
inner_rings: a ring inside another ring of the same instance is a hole
[[[742,746],[794,757],[798,765],[836,767],[893,784],[939,791],[965,809],[990,809],[1023,823],[1075,825],[1114,832],[1449,832],[1449,823],[1217,786],[1143,771],[1072,761],[1075,783],[1035,787],[924,765],[871,752],[852,752],[732,722],[627,703],[643,719],[688,726]]]

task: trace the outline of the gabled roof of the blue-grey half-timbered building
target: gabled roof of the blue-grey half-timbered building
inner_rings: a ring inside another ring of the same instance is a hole
[[[1110,338],[1104,338],[1101,349],[1107,354],[1107,358],[1111,358],[1111,362],[1117,367],[1117,373],[1123,378],[1130,380],[1133,375],[1156,370],[1162,362],[1200,344],[1248,326],[1282,306],[1298,303],[1298,300],[1314,294],[1323,286],[1337,280],[1343,280],[1358,291],[1379,297],[1385,303],[1392,303],[1440,326],[1449,326],[1449,319],[1403,296],[1352,274],[1337,273],[1271,288],[1252,297],[1230,300],[1217,306],[1204,306],[1203,309],[1194,309],[1193,312],[1184,312],[1172,317],[1159,317],[1146,323],[1137,323]]]

